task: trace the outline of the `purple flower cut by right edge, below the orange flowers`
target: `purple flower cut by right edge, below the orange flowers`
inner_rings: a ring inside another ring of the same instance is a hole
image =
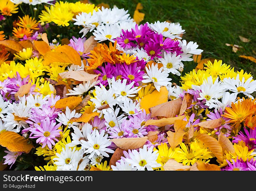
[[[238,134],[232,140],[233,143],[238,143],[239,141],[245,142],[246,146],[249,150],[256,149],[256,129],[251,129],[250,132],[246,129],[246,127],[243,127],[243,130],[245,134],[243,134],[242,131],[239,131]]]

